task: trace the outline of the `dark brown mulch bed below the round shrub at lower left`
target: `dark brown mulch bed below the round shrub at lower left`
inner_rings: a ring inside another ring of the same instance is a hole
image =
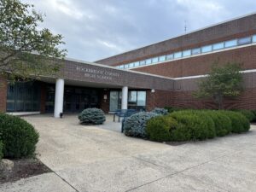
[[[47,166],[44,166],[44,164],[36,158],[13,161],[14,169],[12,171],[0,172],[0,184],[15,182],[20,180],[20,178],[32,177],[46,172],[52,172]]]

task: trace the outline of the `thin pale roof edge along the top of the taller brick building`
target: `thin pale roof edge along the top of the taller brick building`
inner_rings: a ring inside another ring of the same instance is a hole
[[[204,27],[201,27],[201,28],[199,28],[199,29],[195,29],[195,30],[193,30],[193,31],[191,31],[191,32],[182,33],[181,35],[174,36],[173,38],[167,38],[166,40],[161,40],[161,41],[155,42],[155,43],[153,43],[153,44],[144,45],[144,46],[139,47],[139,48],[136,48],[136,49],[126,50],[126,51],[121,52],[121,53],[119,53],[119,54],[117,54],[117,55],[112,55],[112,56],[108,56],[108,57],[102,58],[102,59],[100,59],[100,60],[96,60],[95,62],[97,62],[97,61],[102,61],[102,60],[107,60],[107,59],[112,58],[112,57],[114,57],[114,56],[123,55],[123,54],[125,54],[125,53],[129,53],[129,52],[132,52],[132,51],[135,51],[135,50],[138,50],[138,49],[144,49],[144,48],[147,48],[147,47],[152,46],[152,45],[154,45],[154,44],[161,44],[161,43],[164,43],[164,42],[166,42],[166,41],[172,40],[172,39],[174,39],[174,38],[181,38],[181,37],[183,37],[183,36],[185,36],[185,35],[189,35],[189,34],[194,33],[194,32],[200,32],[200,31],[205,30],[205,29],[207,29],[207,28],[211,28],[211,27],[213,27],[213,26],[219,26],[219,25],[222,25],[222,24],[224,24],[224,23],[227,23],[227,22],[230,22],[230,21],[233,21],[233,20],[239,20],[239,19],[245,18],[245,17],[250,16],[250,15],[256,15],[256,11],[254,11],[254,12],[252,12],[252,13],[249,13],[249,14],[247,14],[247,15],[236,16],[236,17],[234,17],[234,18],[232,18],[232,19],[224,20],[224,21],[221,21],[221,22],[218,22],[218,23],[209,25],[209,26],[204,26]]]

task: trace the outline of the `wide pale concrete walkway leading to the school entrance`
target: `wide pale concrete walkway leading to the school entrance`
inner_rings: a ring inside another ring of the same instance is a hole
[[[169,146],[79,125],[72,115],[25,119],[40,132],[38,158],[54,172],[2,184],[0,191],[256,191],[255,126]]]

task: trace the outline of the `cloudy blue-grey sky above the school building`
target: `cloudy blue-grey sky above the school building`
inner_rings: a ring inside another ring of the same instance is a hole
[[[21,0],[64,36],[67,57],[96,61],[256,11],[255,0]]]

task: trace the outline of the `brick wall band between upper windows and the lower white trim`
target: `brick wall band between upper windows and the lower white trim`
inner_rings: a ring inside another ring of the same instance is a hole
[[[201,75],[209,72],[212,63],[240,62],[243,69],[256,68],[256,46],[241,49],[225,50],[218,53],[200,55],[187,59],[170,61],[148,67],[139,67],[133,70],[153,73],[171,78]]]

